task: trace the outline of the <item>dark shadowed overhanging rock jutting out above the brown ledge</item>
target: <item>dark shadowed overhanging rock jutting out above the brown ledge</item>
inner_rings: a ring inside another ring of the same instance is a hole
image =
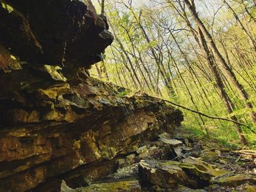
[[[113,37],[90,0],[0,1],[0,42],[33,66],[85,66]],[[1,66],[5,67],[7,62]],[[71,67],[70,67],[71,68]]]

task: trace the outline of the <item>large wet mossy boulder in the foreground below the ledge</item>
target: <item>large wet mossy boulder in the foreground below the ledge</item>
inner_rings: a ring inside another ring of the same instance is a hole
[[[186,159],[184,163],[143,160],[139,164],[142,180],[161,188],[178,188],[178,185],[203,188],[211,179],[225,173],[196,158]]]

